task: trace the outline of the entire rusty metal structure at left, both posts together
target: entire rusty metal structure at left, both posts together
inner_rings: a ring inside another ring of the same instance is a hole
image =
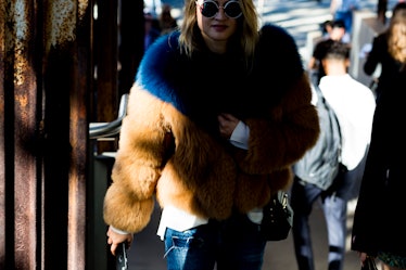
[[[0,268],[85,269],[92,2],[0,2]]]

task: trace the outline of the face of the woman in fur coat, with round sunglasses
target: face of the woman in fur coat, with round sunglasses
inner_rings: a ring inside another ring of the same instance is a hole
[[[242,16],[238,1],[196,0],[196,21],[210,50],[224,53],[228,39],[237,30],[237,18]]]

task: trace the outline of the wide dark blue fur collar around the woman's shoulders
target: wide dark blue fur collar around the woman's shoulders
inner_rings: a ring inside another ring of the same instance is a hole
[[[269,24],[259,34],[251,72],[236,52],[200,51],[190,60],[180,54],[178,31],[160,37],[145,52],[136,81],[199,123],[220,112],[241,118],[263,115],[279,103],[303,67],[296,44],[283,28]]]

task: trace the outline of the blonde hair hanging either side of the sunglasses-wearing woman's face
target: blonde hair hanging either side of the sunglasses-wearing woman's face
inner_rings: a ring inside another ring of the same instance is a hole
[[[254,55],[255,46],[258,40],[258,16],[253,0],[239,0],[242,16],[238,20],[237,40],[244,51],[245,61],[249,62]],[[185,0],[185,16],[180,27],[179,43],[182,52],[188,56],[199,48],[196,4],[195,0]]]

